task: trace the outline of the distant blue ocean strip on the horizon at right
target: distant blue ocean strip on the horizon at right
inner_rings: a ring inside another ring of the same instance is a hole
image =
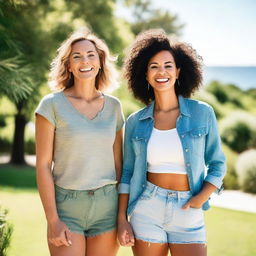
[[[205,67],[204,84],[212,80],[235,84],[242,90],[256,88],[256,67]]]

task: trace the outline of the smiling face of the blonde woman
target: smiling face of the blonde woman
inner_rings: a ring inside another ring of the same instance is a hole
[[[75,80],[94,80],[100,69],[100,58],[94,44],[88,40],[72,45],[69,57],[69,72]]]

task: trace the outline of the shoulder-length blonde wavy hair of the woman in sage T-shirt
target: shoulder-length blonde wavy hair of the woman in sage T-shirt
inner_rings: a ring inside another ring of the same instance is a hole
[[[117,87],[117,71],[114,65],[117,58],[111,56],[105,42],[87,28],[73,32],[57,50],[57,56],[51,63],[49,73],[50,87],[53,90],[64,90],[74,85],[74,76],[68,71],[69,57],[72,45],[83,40],[92,42],[99,54],[101,69],[96,76],[96,89],[101,91],[113,90]]]

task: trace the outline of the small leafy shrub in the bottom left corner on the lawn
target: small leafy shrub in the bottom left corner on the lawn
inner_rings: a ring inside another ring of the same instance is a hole
[[[0,208],[0,256],[6,256],[7,248],[11,242],[11,235],[13,231],[13,226],[7,222],[8,211],[2,211]]]

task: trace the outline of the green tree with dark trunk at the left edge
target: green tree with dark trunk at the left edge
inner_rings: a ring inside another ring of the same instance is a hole
[[[6,75],[3,76],[1,87],[7,91],[5,94],[15,104],[17,110],[11,154],[11,162],[16,164],[25,163],[24,132],[30,117],[31,102],[35,100],[32,95],[37,93],[36,88],[45,80],[43,71],[48,66],[45,56],[49,47],[40,23],[41,17],[45,15],[42,7],[47,8],[47,1],[41,1],[40,4],[37,1],[4,1],[1,2],[0,8],[1,28],[9,39],[8,42],[13,42],[5,45],[4,54],[13,62],[12,69],[5,67]],[[17,48],[14,45],[17,45]],[[19,94],[15,93],[15,85],[19,82],[24,85],[23,97],[17,97]]]

